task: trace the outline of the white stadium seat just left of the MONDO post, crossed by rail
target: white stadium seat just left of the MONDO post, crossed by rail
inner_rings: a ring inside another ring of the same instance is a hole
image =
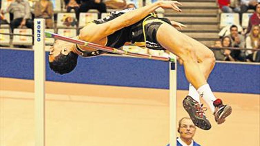
[[[15,28],[14,34],[25,34],[25,35],[32,35],[32,29],[29,28]],[[32,45],[32,37],[27,36],[19,36],[14,35],[13,37],[13,45],[25,45],[30,46]]]

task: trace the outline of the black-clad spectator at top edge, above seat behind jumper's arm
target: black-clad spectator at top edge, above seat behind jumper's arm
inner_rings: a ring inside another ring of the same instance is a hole
[[[101,13],[106,13],[106,5],[102,0],[82,0],[82,5],[80,6],[80,12],[88,12],[89,9],[97,9],[99,14],[98,18],[101,18]]]

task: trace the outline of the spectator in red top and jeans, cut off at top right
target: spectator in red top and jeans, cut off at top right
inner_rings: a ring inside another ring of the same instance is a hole
[[[223,13],[240,12],[238,0],[218,0],[218,6]]]

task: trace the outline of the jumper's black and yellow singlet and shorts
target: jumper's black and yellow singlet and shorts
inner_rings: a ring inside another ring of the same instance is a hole
[[[121,16],[124,13],[133,11],[134,8],[125,9],[122,11],[111,12],[111,14],[103,19],[97,19],[93,22],[95,24],[102,24]],[[131,42],[139,47],[147,47],[153,50],[165,50],[156,40],[156,32],[159,26],[163,23],[169,23],[170,20],[166,18],[158,18],[156,14],[150,13],[144,19],[117,30],[111,35],[107,36],[107,43],[105,46],[120,48],[126,42]],[[77,46],[77,45],[76,45]],[[105,51],[84,51],[77,46],[77,50],[82,52],[82,57],[92,57],[106,53]]]

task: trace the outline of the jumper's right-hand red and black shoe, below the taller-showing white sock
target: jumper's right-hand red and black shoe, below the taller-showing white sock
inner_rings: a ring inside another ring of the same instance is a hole
[[[231,106],[223,105],[221,99],[216,99],[213,102],[213,105],[215,106],[215,111],[214,111],[215,121],[217,122],[217,124],[224,123],[225,118],[228,117],[232,112]]]

